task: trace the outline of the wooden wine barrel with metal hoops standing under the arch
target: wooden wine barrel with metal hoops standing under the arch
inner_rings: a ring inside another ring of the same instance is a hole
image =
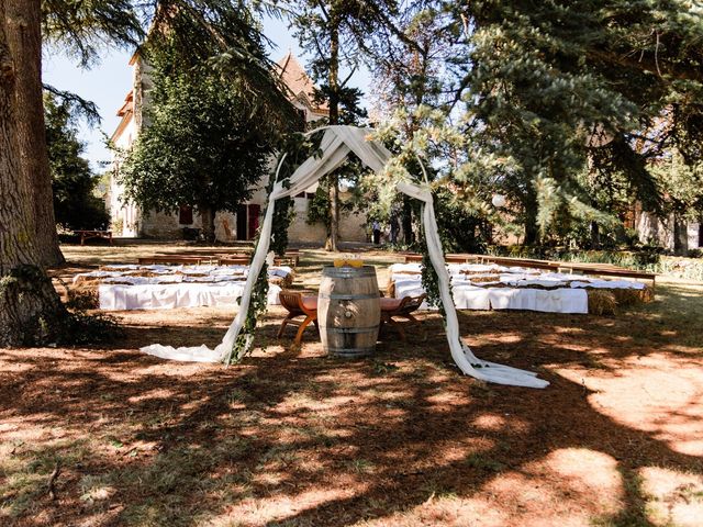
[[[381,321],[376,269],[325,267],[317,298],[322,346],[337,357],[365,357],[376,349]]]

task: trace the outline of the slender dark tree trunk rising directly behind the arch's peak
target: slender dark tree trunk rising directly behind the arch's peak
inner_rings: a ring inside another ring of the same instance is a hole
[[[339,20],[333,5],[330,20],[330,124],[339,124]],[[339,239],[339,178],[330,175],[330,235],[325,249],[337,250]]]

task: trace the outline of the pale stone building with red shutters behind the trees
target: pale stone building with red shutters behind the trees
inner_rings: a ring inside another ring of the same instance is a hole
[[[149,67],[135,54],[130,60],[133,67],[132,89],[125,97],[124,103],[118,111],[122,117],[112,143],[120,150],[129,150],[145,123],[144,109],[148,106]],[[276,65],[278,74],[289,89],[289,97],[293,105],[306,123],[314,123],[328,115],[324,104],[314,102],[314,85],[298,59],[289,52]],[[314,125],[313,125],[314,126]],[[311,126],[312,127],[312,126]],[[201,227],[201,218],[197,211],[183,204],[176,213],[142,211],[135,203],[124,199],[124,187],[115,178],[119,172],[119,160],[113,160],[114,168],[110,178],[108,204],[111,215],[111,228],[115,236],[122,237],[153,237],[160,239],[180,239],[185,235],[196,233]],[[274,161],[271,161],[274,165]],[[268,175],[267,175],[268,178]],[[241,203],[235,212],[217,212],[215,215],[215,236],[220,242],[253,239],[259,226],[261,213],[266,204],[266,180],[259,181],[252,199]],[[289,240],[306,244],[322,244],[325,240],[325,227],[322,224],[309,225],[308,204],[315,193],[316,183],[294,198],[295,216],[289,228]],[[342,192],[341,199],[348,199],[350,194]],[[366,242],[366,217],[362,214],[343,214],[339,220],[339,237],[345,242]]]

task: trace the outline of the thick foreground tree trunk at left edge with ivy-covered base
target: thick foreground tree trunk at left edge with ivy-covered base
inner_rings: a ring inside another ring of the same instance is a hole
[[[37,7],[21,3],[25,11]],[[24,112],[18,111],[22,100],[16,94],[22,89],[18,64],[25,57],[9,46],[7,5],[8,0],[0,0],[0,347],[52,341],[69,318],[40,267],[43,240],[37,240],[34,225],[34,181],[22,165],[20,121]],[[24,19],[23,10],[12,14],[13,23],[38,24],[38,19]]]

